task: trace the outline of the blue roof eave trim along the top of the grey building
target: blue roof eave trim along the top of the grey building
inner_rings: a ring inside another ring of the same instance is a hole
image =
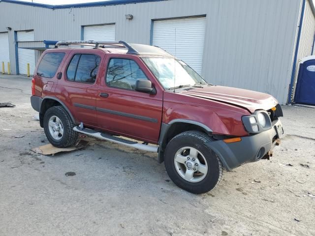
[[[108,1],[66,4],[66,5],[50,5],[50,4],[32,3],[32,2],[19,1],[19,0],[0,0],[0,2],[8,2],[8,3],[14,3],[14,4],[43,7],[43,8],[53,9],[53,10],[54,9],[63,9],[63,8],[109,6],[109,5],[120,5],[120,4],[129,4],[129,3],[142,3],[142,2],[151,2],[151,1],[166,1],[166,0],[108,0]]]

